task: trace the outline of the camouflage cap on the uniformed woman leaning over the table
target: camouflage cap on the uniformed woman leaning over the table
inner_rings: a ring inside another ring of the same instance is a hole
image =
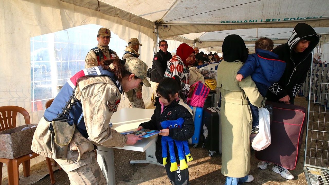
[[[142,82],[146,87],[151,87],[150,82],[146,79],[147,65],[143,61],[136,57],[126,58],[126,63],[124,66],[127,71],[142,79]]]

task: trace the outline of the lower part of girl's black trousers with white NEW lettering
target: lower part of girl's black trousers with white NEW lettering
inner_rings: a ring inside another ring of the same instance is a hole
[[[168,178],[172,185],[189,185],[189,168],[180,170],[178,167],[178,170],[174,172],[170,172],[170,161],[164,165],[165,171],[167,172]]]

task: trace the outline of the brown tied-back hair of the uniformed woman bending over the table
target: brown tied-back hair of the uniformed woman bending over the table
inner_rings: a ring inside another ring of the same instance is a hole
[[[128,75],[132,74],[131,72],[126,70],[126,68],[124,66],[125,62],[126,62],[125,60],[115,58],[115,59],[104,59],[100,63],[104,69],[112,72],[114,74],[114,76],[116,77],[116,79],[121,81],[122,78],[124,76],[126,76],[127,74]],[[113,64],[113,67],[112,67],[113,69],[110,68],[111,64]]]

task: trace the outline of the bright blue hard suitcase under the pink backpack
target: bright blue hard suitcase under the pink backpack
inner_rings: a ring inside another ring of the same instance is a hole
[[[195,148],[199,144],[203,108],[201,108],[201,107],[192,107],[192,106],[190,106],[190,107],[193,111],[194,134],[189,139],[189,144],[193,145],[193,147]]]

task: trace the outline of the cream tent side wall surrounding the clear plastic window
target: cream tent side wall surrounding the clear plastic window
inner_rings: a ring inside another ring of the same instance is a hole
[[[152,65],[153,54],[150,51],[153,50],[154,40],[157,40],[153,28],[59,0],[3,0],[0,1],[0,8],[0,106],[24,107],[32,123],[38,123],[43,111],[31,110],[31,37],[80,25],[98,24],[110,28],[123,40],[138,38],[143,44],[140,59],[148,66]],[[93,37],[96,45],[96,35]],[[150,97],[147,89],[143,93],[145,99]],[[40,160],[43,159],[31,160],[31,165]],[[7,176],[5,165],[2,173],[3,178]]]

